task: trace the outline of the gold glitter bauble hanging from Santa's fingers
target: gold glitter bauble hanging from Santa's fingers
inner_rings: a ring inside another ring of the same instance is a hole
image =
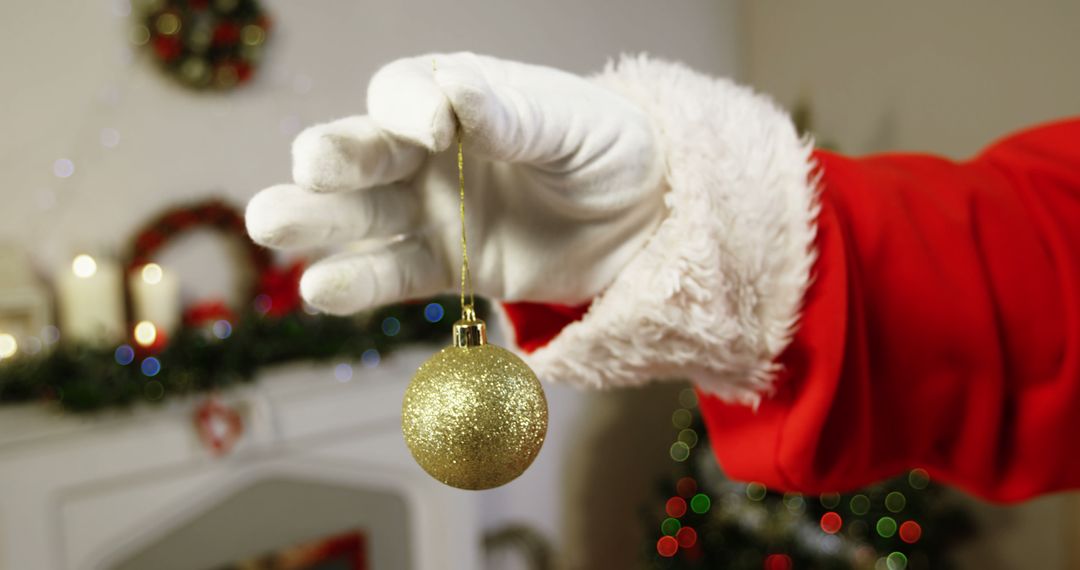
[[[417,463],[459,489],[515,479],[548,433],[548,399],[531,369],[488,344],[483,322],[459,322],[455,343],[424,362],[405,391],[402,432]]]

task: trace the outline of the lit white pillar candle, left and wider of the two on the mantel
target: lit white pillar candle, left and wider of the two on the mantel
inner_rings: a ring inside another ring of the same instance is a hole
[[[122,340],[123,281],[120,267],[107,258],[80,255],[56,275],[60,337],[69,342],[108,345]]]

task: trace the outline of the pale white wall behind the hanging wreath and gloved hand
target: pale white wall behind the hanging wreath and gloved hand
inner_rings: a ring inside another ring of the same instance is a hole
[[[268,1],[275,27],[256,82],[229,95],[179,89],[126,42],[124,0],[0,6],[0,240],[52,267],[122,247],[152,213],[222,194],[243,203],[288,178],[300,125],[364,110],[368,77],[395,57],[472,50],[573,71],[647,51],[730,72],[731,1]],[[118,6],[121,6],[118,9]],[[134,59],[134,60],[133,60]],[[104,148],[102,128],[120,132]],[[76,173],[52,174],[69,158]]]

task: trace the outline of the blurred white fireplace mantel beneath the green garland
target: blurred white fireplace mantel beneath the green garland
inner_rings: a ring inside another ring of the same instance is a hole
[[[342,516],[367,531],[375,568],[401,564],[402,548],[410,568],[477,568],[476,494],[433,481],[401,438],[402,394],[429,353],[403,351],[372,369],[349,363],[348,381],[334,374],[339,363],[288,366],[222,394],[245,424],[224,458],[208,453],[192,426],[202,398],[92,418],[37,405],[0,408],[0,570],[132,568],[130,560],[144,559],[139,553],[174,529],[265,481],[399,498],[407,535],[389,535],[379,522],[386,513],[375,507],[350,507],[354,517],[298,513],[303,497],[282,497],[281,510],[262,501],[260,519],[219,529],[185,559],[154,570],[208,568],[350,530],[338,528]]]

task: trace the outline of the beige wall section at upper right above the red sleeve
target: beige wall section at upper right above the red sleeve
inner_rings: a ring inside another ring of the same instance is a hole
[[[744,79],[848,152],[964,157],[995,137],[1080,114],[1080,2],[755,0]]]

